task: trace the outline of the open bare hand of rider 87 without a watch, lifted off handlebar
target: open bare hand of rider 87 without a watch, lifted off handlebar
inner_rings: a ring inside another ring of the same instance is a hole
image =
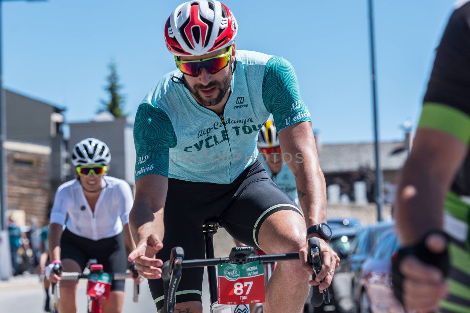
[[[129,254],[127,260],[135,261],[137,272],[148,279],[162,277],[163,261],[155,258],[155,254],[163,248],[163,243],[157,234],[141,239],[136,248]]]

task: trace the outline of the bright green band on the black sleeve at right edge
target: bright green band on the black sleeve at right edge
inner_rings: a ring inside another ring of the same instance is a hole
[[[442,130],[462,140],[465,145],[470,140],[470,116],[441,103],[424,103],[418,128]]]

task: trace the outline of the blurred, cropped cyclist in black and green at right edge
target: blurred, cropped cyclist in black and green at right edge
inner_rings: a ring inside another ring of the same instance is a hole
[[[459,1],[399,183],[397,230],[405,248],[393,262],[393,285],[407,310],[470,312],[469,142],[470,2]]]

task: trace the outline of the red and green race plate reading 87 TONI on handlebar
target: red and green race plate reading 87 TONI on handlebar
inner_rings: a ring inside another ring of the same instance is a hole
[[[249,305],[265,302],[263,262],[218,266],[218,303]]]

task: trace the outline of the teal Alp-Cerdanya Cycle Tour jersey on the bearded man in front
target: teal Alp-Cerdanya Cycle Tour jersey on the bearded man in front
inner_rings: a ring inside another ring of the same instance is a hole
[[[311,122],[297,76],[284,58],[237,51],[222,115],[199,105],[177,78],[163,76],[134,123],[135,180],[158,174],[192,182],[232,183],[258,157],[258,131],[272,114],[278,131]]]

